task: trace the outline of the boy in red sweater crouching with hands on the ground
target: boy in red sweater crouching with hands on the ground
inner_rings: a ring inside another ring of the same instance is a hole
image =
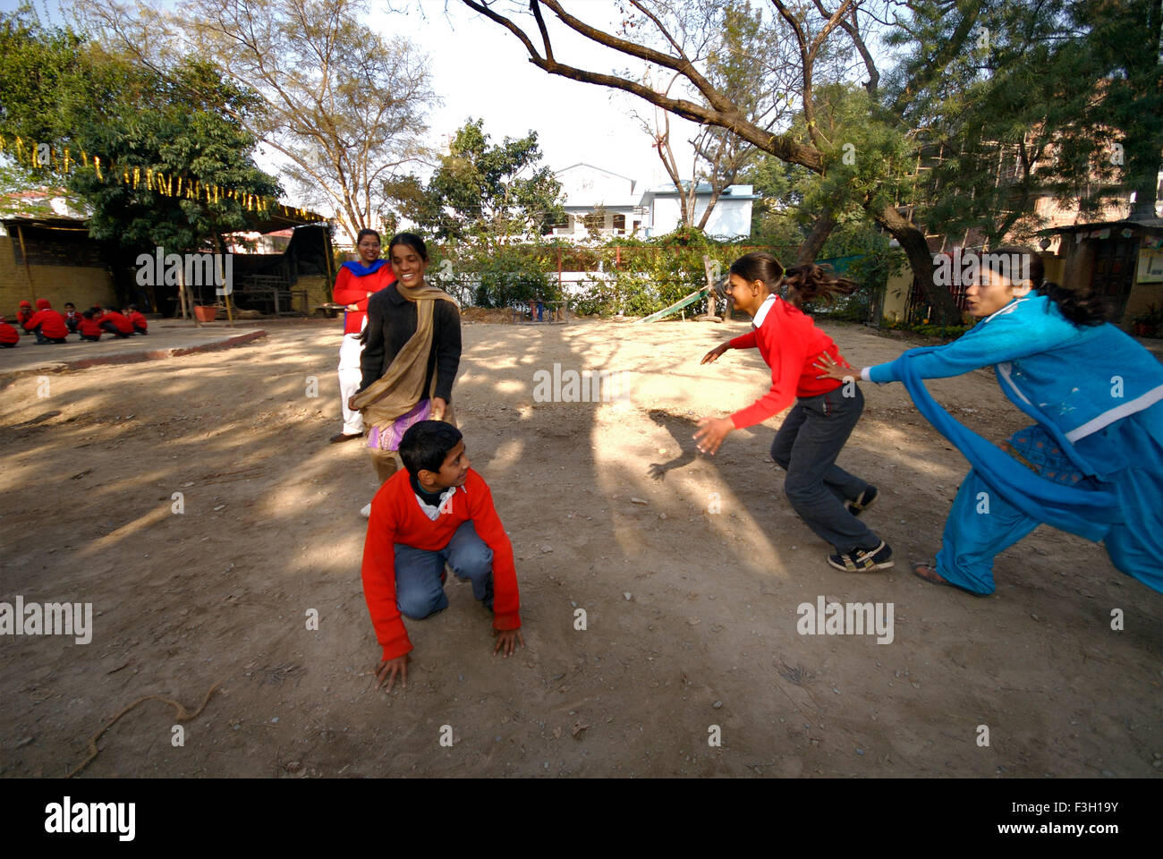
[[[507,658],[521,636],[513,545],[484,478],[469,468],[461,431],[421,420],[400,440],[405,470],[376,492],[364,541],[363,585],[384,648],[376,687],[408,684],[412,643],[400,615],[419,620],[448,608],[447,563],[493,612],[493,653]],[[494,592],[495,589],[495,592]]]

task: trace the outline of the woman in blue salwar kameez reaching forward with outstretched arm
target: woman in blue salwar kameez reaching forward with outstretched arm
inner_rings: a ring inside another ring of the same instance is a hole
[[[993,254],[1023,255],[1028,278],[983,267],[966,293],[980,319],[973,328],[946,346],[861,370],[865,381],[904,383],[921,414],[972,464],[935,566],[918,565],[914,573],[992,594],[993,558],[1046,523],[1103,540],[1118,569],[1163,591],[1163,365],[1104,321],[1099,298],[1043,282],[1036,254]],[[844,377],[842,367],[818,365]],[[955,420],[922,382],[987,365],[1011,402],[1037,421],[1000,449]]]

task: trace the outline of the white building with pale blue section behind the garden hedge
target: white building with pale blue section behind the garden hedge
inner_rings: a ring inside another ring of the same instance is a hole
[[[592,164],[573,164],[556,176],[565,196],[566,218],[552,225],[549,235],[585,239],[595,233],[648,239],[665,235],[682,222],[679,192],[671,183],[635,193],[634,179]],[[756,199],[751,185],[728,185],[711,212],[706,233],[725,239],[749,236],[751,204]],[[709,203],[711,185],[700,183],[694,200],[695,222]]]

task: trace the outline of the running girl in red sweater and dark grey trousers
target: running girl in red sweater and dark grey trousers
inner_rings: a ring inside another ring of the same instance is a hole
[[[780,283],[789,301],[776,294]],[[771,459],[787,476],[784,494],[800,518],[836,548],[828,563],[850,573],[892,567],[892,549],[856,517],[877,496],[872,487],[836,464],[844,442],[864,411],[864,396],[855,379],[818,378],[815,362],[828,355],[847,362],[827,334],[815,327],[800,305],[849,292],[850,281],[830,277],[818,265],[787,271],[771,254],[745,254],[732,263],[727,286],[734,306],[752,319],[754,329],[716,346],[701,363],[728,349],[758,347],[771,368],[771,390],[729,418],[704,418],[694,439],[702,453],[714,454],[732,430],[771,418],[795,400],[771,445]]]

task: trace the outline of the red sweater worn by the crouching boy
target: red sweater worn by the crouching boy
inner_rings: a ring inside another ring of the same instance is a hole
[[[497,516],[493,495],[485,478],[470,468],[464,487],[457,488],[452,496],[450,509],[433,521],[421,510],[408,473],[400,469],[372,498],[362,568],[364,598],[376,627],[376,640],[384,648],[385,661],[412,651],[408,632],[395,604],[395,544],[438,552],[470,519],[477,535],[493,551],[493,629],[521,627],[513,544]]]

